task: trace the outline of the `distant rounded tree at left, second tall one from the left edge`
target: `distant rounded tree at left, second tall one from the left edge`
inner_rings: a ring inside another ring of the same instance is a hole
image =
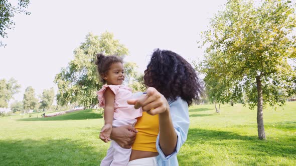
[[[25,110],[33,109],[38,103],[38,99],[35,97],[35,89],[32,86],[25,89],[23,103]]]

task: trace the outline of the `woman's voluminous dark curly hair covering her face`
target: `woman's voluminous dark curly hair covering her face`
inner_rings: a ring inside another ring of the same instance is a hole
[[[144,71],[144,84],[155,87],[166,98],[180,96],[188,105],[199,98],[202,87],[194,68],[179,54],[155,49]]]

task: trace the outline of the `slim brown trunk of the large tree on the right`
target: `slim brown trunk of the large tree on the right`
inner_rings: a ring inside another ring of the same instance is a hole
[[[262,84],[260,80],[260,76],[256,76],[257,83],[257,127],[258,127],[258,138],[266,139],[265,131],[264,131],[264,123],[263,123],[263,96],[262,96]]]

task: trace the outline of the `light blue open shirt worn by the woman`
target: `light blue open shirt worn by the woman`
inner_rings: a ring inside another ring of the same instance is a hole
[[[168,102],[170,105],[170,114],[172,117],[173,125],[178,136],[177,146],[172,154],[166,156],[160,147],[160,134],[158,134],[156,139],[156,148],[159,152],[159,155],[157,156],[157,164],[176,166],[179,165],[177,154],[181,146],[187,139],[189,129],[189,110],[187,102],[181,97],[177,97],[175,101],[168,100]]]

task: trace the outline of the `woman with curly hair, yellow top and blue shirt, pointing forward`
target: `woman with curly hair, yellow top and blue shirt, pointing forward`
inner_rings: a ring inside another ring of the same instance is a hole
[[[132,147],[128,165],[178,165],[177,153],[189,129],[188,105],[201,92],[199,78],[182,56],[156,49],[144,72],[144,84],[146,94],[127,101],[142,108],[142,117],[135,128],[113,128],[111,139],[121,147]]]

